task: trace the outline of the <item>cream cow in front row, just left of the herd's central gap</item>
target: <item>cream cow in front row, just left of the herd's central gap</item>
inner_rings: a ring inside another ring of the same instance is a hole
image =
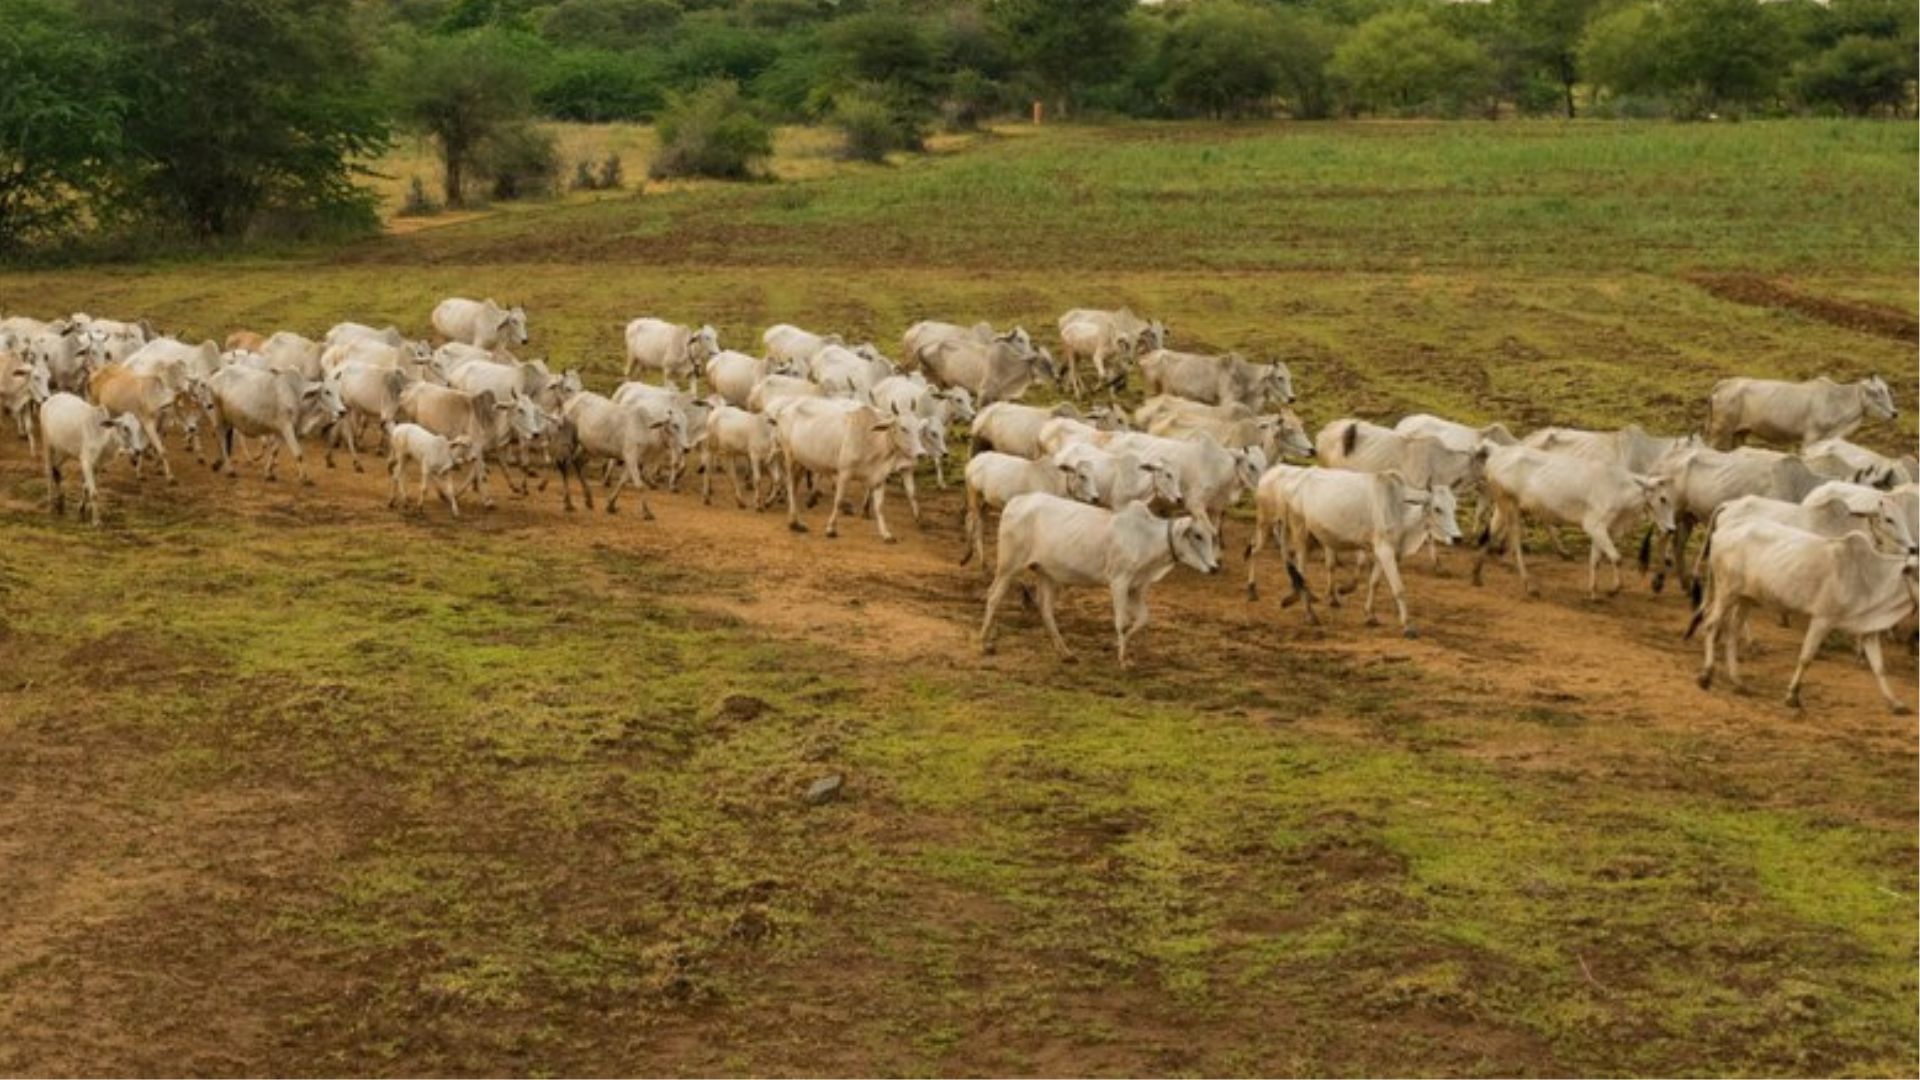
[[[916,415],[879,413],[856,402],[829,398],[801,398],[774,415],[780,450],[787,471],[787,528],[806,532],[795,496],[799,473],[833,475],[833,511],[828,515],[828,536],[839,536],[841,502],[847,484],[858,482],[874,505],[874,525],[879,538],[895,542],[883,511],[887,479],[906,473],[906,503],[920,521],[914,498],[912,469],[925,455],[920,440],[924,423]]]

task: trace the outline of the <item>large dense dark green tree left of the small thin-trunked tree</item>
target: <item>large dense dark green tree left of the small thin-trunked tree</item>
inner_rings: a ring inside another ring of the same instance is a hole
[[[234,236],[267,206],[371,225],[355,161],[386,146],[351,0],[86,0],[119,42],[136,209]]]

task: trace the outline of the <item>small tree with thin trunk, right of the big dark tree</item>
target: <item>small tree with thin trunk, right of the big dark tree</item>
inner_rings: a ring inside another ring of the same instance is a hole
[[[440,152],[447,206],[465,206],[467,177],[488,138],[532,115],[528,44],[495,29],[426,37],[388,67],[399,117]]]

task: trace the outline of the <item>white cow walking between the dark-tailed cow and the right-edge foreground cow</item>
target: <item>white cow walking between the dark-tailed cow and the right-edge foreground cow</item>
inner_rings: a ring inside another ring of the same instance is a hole
[[[1503,536],[1513,548],[1521,588],[1538,596],[1526,577],[1526,519],[1551,525],[1578,525],[1592,540],[1586,557],[1586,598],[1599,600],[1599,559],[1613,563],[1613,590],[1620,592],[1620,550],[1613,538],[1638,523],[1651,523],[1667,534],[1674,528],[1674,492],[1667,477],[1628,473],[1617,461],[1594,461],[1549,454],[1532,446],[1498,446],[1486,457],[1486,494],[1494,517],[1480,532],[1480,555],[1473,563],[1473,584],[1480,584],[1492,540]],[[1642,552],[1645,552],[1645,544]]]

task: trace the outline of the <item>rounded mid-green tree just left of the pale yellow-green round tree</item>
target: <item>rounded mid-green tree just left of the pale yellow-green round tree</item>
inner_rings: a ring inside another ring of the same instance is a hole
[[[1238,0],[1202,4],[1167,33],[1165,96],[1212,117],[1248,115],[1281,86],[1279,23]]]

